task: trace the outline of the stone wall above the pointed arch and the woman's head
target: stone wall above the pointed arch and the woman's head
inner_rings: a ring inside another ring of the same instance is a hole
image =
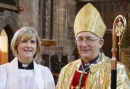
[[[16,12],[1,8],[0,20],[10,15],[16,20],[19,28],[23,26],[32,26],[38,30],[39,0],[20,0],[19,5],[24,8],[24,11]]]

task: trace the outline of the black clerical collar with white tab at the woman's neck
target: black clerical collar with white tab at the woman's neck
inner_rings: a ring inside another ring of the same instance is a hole
[[[23,64],[18,60],[18,68],[19,69],[26,69],[26,70],[34,69],[33,61],[29,64]]]

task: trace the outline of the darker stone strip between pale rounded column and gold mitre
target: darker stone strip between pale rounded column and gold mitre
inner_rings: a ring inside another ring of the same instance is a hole
[[[75,37],[74,37],[74,30],[73,30],[73,24],[75,20],[76,15],[76,2],[75,0],[68,0],[67,1],[67,29],[66,29],[66,43],[67,45],[64,46],[64,55],[68,54],[68,61],[74,60],[74,50],[76,48],[75,45]]]

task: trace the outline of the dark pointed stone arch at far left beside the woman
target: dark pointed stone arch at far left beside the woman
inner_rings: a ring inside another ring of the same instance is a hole
[[[16,20],[11,15],[8,15],[0,21],[0,32],[2,29],[5,30],[8,37],[8,61],[10,62],[14,58],[10,44],[12,37],[14,33],[19,29],[19,26]]]

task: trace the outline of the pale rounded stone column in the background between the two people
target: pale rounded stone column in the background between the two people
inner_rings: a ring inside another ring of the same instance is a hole
[[[65,31],[66,31],[66,0],[58,0],[57,9],[57,33],[56,40],[58,46],[64,46]]]

